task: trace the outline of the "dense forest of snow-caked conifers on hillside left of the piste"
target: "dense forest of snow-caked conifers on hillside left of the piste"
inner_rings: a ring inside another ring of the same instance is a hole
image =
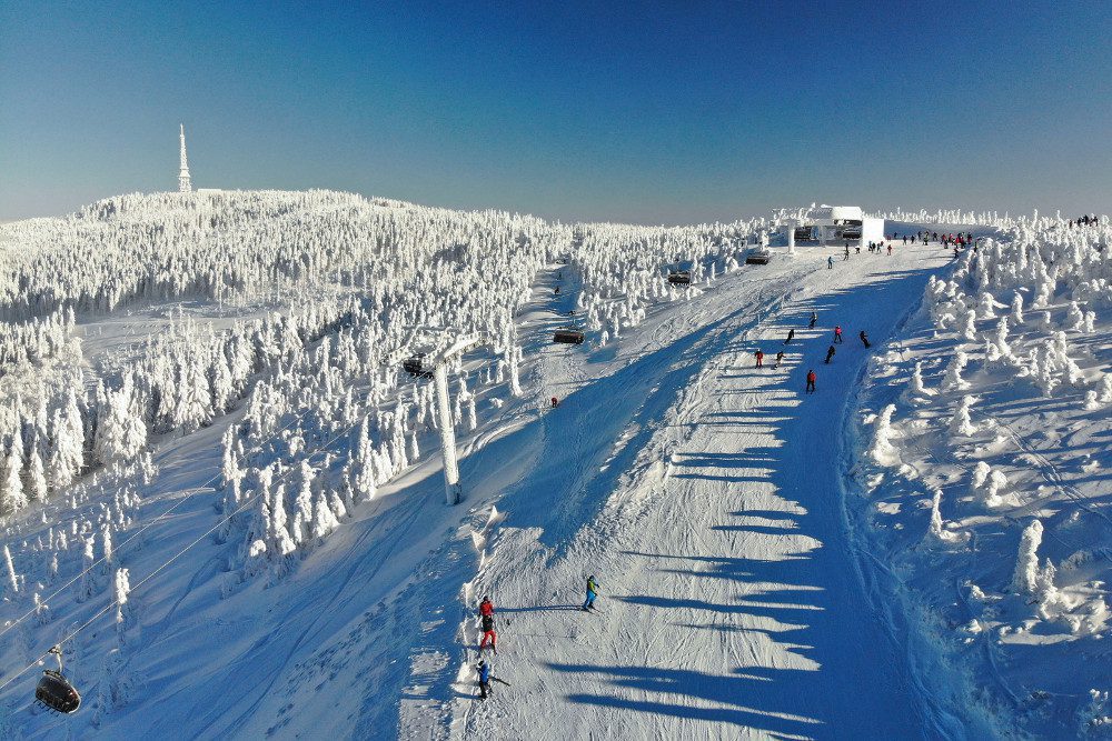
[[[151,452],[228,413],[208,488],[226,584],[281,578],[431,445],[433,389],[396,362],[415,328],[489,338],[478,366],[451,372],[456,424],[475,429],[480,389],[496,404],[520,393],[515,316],[543,270],[578,287],[575,320],[602,344],[699,290],[677,292],[669,266],[713,280],[761,226],[567,226],[326,191],[133,194],[0,226],[9,609],[46,623],[47,598],[111,592],[135,622],[126,553],[150,524]],[[179,303],[126,348],[83,348],[87,321],[175,301],[208,309]],[[230,319],[217,329],[206,312]],[[49,524],[31,540],[29,512]]]

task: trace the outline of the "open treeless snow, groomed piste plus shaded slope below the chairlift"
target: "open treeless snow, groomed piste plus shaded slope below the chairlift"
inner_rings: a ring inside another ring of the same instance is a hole
[[[845,414],[868,357],[856,332],[883,343],[949,252],[838,258],[802,249],[736,268],[646,303],[634,322],[599,303],[620,334],[579,347],[552,344],[552,331],[585,289],[548,264],[516,317],[524,394],[476,384],[483,421],[457,429],[464,504],[444,505],[439,460],[424,454],[279,578],[242,579],[235,549],[212,537],[220,441],[245,407],[158,438],[137,514],[149,532],[120,553],[141,584],[133,624],[96,621],[107,594],[66,590],[48,630],[21,621],[4,633],[16,670],[88,624],[67,657],[88,712],[29,708],[31,672],[0,694],[0,735],[983,735],[951,707],[933,649],[891,609],[896,585],[855,549],[843,511]],[[127,321],[83,318],[86,352],[117,353],[159,311],[180,316],[166,303]],[[835,323],[846,343],[825,366]],[[108,507],[99,495],[11,525],[11,542],[34,551],[48,530],[52,542],[52,517],[76,533],[88,517],[77,507]],[[577,610],[588,574],[603,590],[597,614]],[[484,593],[498,605],[495,674],[510,687],[480,703]]]

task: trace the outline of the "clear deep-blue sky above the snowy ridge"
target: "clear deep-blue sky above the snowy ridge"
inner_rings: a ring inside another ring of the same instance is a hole
[[[0,0],[0,220],[177,187],[565,220],[1112,211],[1112,4]]]

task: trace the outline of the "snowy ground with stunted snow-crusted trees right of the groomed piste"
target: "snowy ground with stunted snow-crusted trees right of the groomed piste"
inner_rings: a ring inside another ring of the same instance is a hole
[[[1045,219],[966,252],[861,397],[858,532],[1001,735],[1112,728],[1110,244]]]

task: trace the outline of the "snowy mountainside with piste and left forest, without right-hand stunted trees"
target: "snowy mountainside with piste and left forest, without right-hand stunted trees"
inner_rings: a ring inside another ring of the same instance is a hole
[[[4,224],[0,735],[993,732],[847,475],[871,352],[951,252],[739,264],[762,227],[328,192]],[[567,322],[585,344],[552,343]],[[429,384],[397,368],[419,326],[488,338],[451,370],[455,508]],[[509,687],[480,702],[486,593]],[[72,717],[29,707],[56,642]]]

